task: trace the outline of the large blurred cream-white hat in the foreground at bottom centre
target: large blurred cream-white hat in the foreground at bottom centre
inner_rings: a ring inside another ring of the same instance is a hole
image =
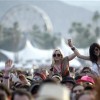
[[[44,84],[38,93],[37,100],[70,100],[69,90],[60,84]]]

